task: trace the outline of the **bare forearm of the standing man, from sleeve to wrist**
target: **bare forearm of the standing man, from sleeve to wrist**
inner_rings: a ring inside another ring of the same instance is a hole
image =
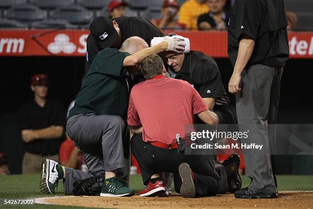
[[[239,41],[239,49],[233,74],[241,75],[243,69],[251,58],[255,41],[250,38],[242,38]]]

